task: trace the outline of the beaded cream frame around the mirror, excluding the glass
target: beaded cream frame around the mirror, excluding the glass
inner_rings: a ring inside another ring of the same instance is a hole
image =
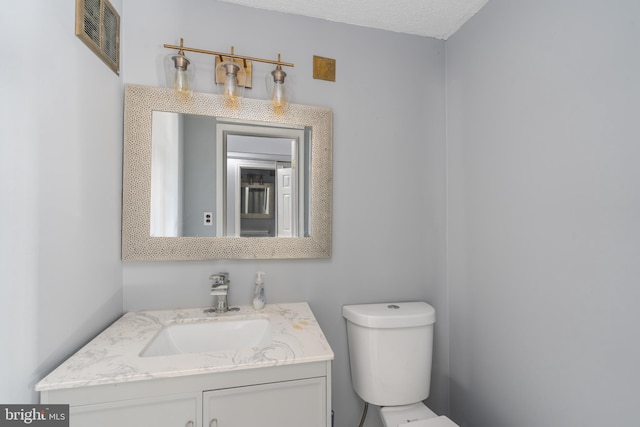
[[[311,127],[311,223],[309,237],[152,237],[151,128],[153,111]],[[126,85],[124,109],[122,259],[179,261],[210,259],[330,258],[333,199],[333,112],[290,104],[276,115],[270,101],[243,99],[236,110],[224,98],[194,93],[182,101],[172,89]]]

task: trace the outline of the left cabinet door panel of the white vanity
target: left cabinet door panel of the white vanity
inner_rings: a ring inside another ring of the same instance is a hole
[[[70,427],[200,427],[199,394],[72,406]],[[191,424],[190,424],[191,422]]]

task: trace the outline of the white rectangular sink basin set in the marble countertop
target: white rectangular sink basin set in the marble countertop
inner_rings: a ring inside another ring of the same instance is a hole
[[[240,351],[271,343],[269,319],[216,319],[172,323],[142,350],[140,356]]]

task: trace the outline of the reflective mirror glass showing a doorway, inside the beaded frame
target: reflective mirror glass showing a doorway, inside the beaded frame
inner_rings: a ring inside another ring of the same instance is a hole
[[[153,111],[152,237],[309,237],[311,130]]]

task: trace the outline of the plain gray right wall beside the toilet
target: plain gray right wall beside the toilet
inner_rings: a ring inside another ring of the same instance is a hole
[[[639,17],[491,0],[447,41],[463,427],[640,425]]]

